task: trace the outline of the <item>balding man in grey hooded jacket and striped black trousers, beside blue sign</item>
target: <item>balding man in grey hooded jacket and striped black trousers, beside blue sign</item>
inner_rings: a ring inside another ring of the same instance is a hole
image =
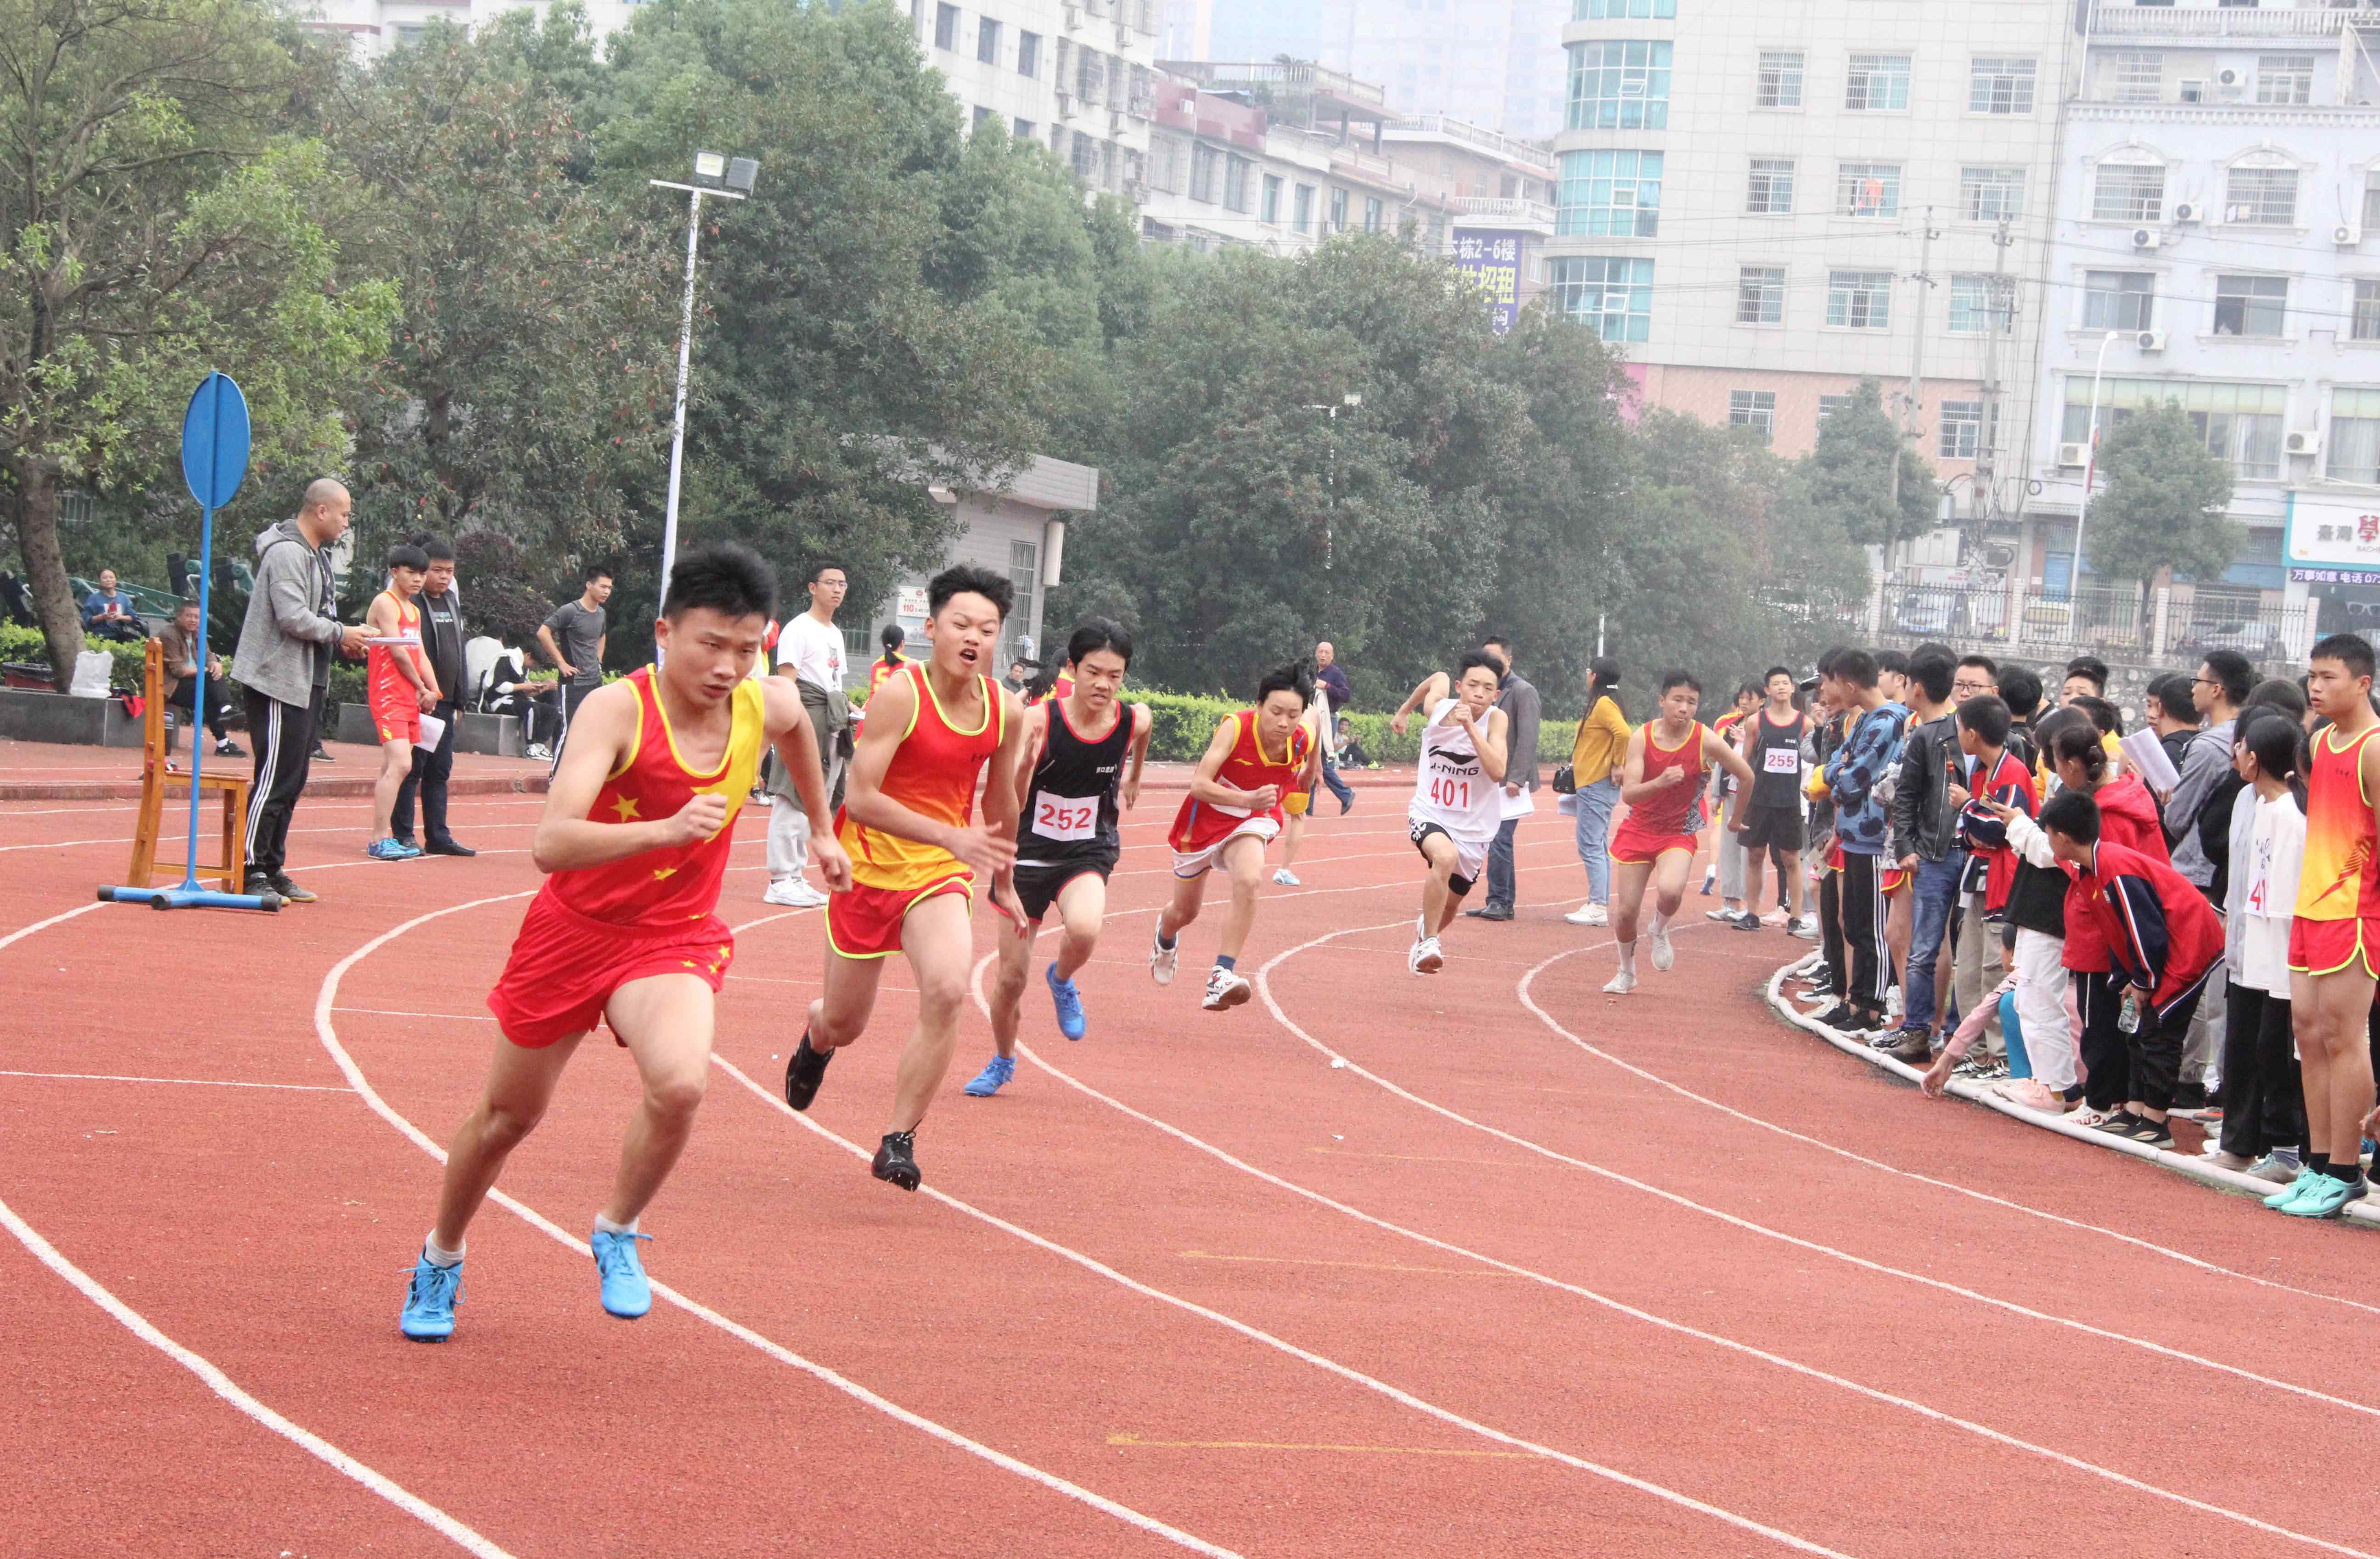
[[[314,902],[288,871],[290,814],[314,752],[314,709],[331,685],[331,655],[364,652],[364,628],[338,621],[331,543],[347,533],[347,488],[328,476],[305,490],[295,519],[257,536],[257,586],[233,650],[233,681],[248,690],[248,733],[257,778],[248,793],[248,893]]]

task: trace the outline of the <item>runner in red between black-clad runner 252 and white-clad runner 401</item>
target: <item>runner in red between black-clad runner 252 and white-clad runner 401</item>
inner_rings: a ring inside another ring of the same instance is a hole
[[[1173,902],[1157,916],[1157,940],[1150,943],[1150,973],[1159,985],[1171,985],[1180,966],[1178,938],[1207,902],[1207,874],[1216,866],[1230,871],[1223,940],[1200,1002],[1207,1012],[1238,1007],[1250,995],[1238,962],[1247,928],[1257,923],[1264,847],[1280,833],[1283,797],[1311,788],[1321,769],[1321,747],[1304,726],[1311,702],[1314,678],[1304,666],[1266,671],[1257,683],[1257,707],[1240,709],[1214,728],[1214,740],[1190,774],[1190,795],[1166,833],[1173,876],[1180,881],[1173,883]]]

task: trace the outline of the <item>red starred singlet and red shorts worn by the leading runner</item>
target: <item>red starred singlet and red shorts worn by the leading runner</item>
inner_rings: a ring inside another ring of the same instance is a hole
[[[654,824],[704,793],[724,797],[728,816],[707,840],[545,878],[488,993],[505,1038],[531,1050],[593,1028],[628,981],[693,973],[719,990],[735,957],[735,938],[716,914],[719,881],[766,745],[762,685],[735,683],[726,752],[714,769],[697,771],[678,755],[652,666],[624,681],[635,688],[635,740],[595,793],[588,821]]]

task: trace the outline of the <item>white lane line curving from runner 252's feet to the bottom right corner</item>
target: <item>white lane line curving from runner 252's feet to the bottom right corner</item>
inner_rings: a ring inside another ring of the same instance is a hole
[[[1385,931],[1390,926],[1411,926],[1411,921],[1397,919],[1397,921],[1388,921],[1383,926],[1354,926],[1349,931]],[[1333,935],[1342,935],[1342,933],[1333,933]],[[1319,940],[1328,940],[1328,938],[1319,938]],[[983,957],[983,959],[976,962],[976,971],[973,971],[976,1007],[985,1007],[985,1002],[983,1002],[983,971],[988,966],[990,966],[990,957]],[[988,1012],[988,1007],[985,1007],[985,1012]],[[1288,1028],[1292,1033],[1302,1033],[1295,1023],[1288,1023]],[[1735,1338],[1723,1338],[1718,1333],[1709,1333],[1709,1331],[1702,1331],[1697,1326],[1687,1326],[1685,1321],[1671,1321],[1668,1316],[1659,1316],[1659,1314],[1654,1314],[1649,1309],[1637,1309],[1635,1304],[1628,1304],[1626,1300],[1614,1300],[1611,1295],[1597,1292],[1592,1288],[1583,1288],[1578,1283],[1566,1283],[1564,1278],[1554,1278],[1549,1273],[1542,1273],[1542,1271],[1535,1271],[1535,1269],[1528,1269],[1528,1266],[1518,1266],[1518,1264],[1504,1261],[1499,1257],[1490,1257],[1485,1252],[1471,1250],[1466,1245],[1457,1245],[1452,1240],[1440,1240],[1438,1235],[1421,1233],[1418,1228],[1407,1228],[1404,1223],[1392,1223],[1392,1221],[1383,1219],[1383,1216],[1364,1211],[1361,1207],[1352,1207],[1347,1202],[1328,1197],[1328,1195],[1323,1195],[1319,1190],[1311,1190],[1307,1185],[1299,1185],[1295,1181],[1285,1181],[1285,1178],[1271,1173],[1269,1169],[1259,1169],[1259,1166],[1250,1164],[1247,1159],[1240,1159],[1233,1152],[1228,1152],[1223,1147],[1216,1147],[1214,1142],[1209,1142],[1204,1138],[1190,1135],[1180,1126],[1173,1126],[1169,1121],[1159,1121],[1152,1114],[1142,1114],[1140,1109],[1133,1109],[1123,1100],[1116,1100],[1116,1097],[1111,1097],[1107,1092],[1100,1092],[1090,1083],[1083,1083],[1081,1078],[1076,1078],[1076,1076],[1071,1076],[1066,1071],[1059,1071],[1057,1066],[1050,1064],[1047,1057],[1042,1057],[1031,1045],[1019,1043],[1016,1045],[1016,1054],[1026,1057],[1028,1062],[1033,1062],[1035,1066],[1040,1066],[1042,1071],[1047,1071],[1050,1076],[1054,1076],[1059,1083],[1066,1083],[1076,1092],[1081,1092],[1081,1095],[1085,1095],[1090,1100],[1097,1100],[1100,1104],[1107,1104],[1109,1109],[1114,1109],[1119,1114],[1126,1114],[1126,1116],[1140,1121],[1142,1126],[1161,1131],[1164,1135],[1173,1138],[1176,1142],[1183,1142],[1185,1147],[1204,1152],[1207,1157],[1211,1157],[1211,1159],[1216,1159],[1221,1164],[1228,1164],[1230,1169],[1238,1169],[1240,1173],[1254,1176],[1257,1181],[1264,1181],[1266,1185],[1276,1185],[1276,1188],[1290,1192],[1292,1197],[1302,1197],[1307,1202],[1314,1202],[1316,1207],[1328,1207],[1330,1211],[1338,1211],[1338,1214],[1342,1214],[1347,1219],[1354,1219],[1357,1223],[1364,1223],[1368,1228],[1378,1228],[1383,1233],[1392,1233],[1392,1235],[1399,1235],[1404,1240],[1414,1240],[1416,1245],[1423,1245],[1423,1247],[1435,1250],[1440,1254],[1461,1257],[1466,1261],[1478,1261],[1483,1266],[1511,1273],[1516,1278],[1528,1278],[1530,1283],[1540,1283],[1545,1288],[1552,1288],[1552,1290],[1559,1290],[1559,1292],[1566,1292],[1566,1295],[1576,1295],[1580,1300],[1587,1300],[1590,1304],[1599,1304],[1599,1307],[1609,1309],[1611,1314],[1628,1316],[1633,1321],[1642,1321],[1647,1326],[1654,1326],[1659,1331],[1666,1331],[1666,1333],[1673,1333],[1673,1335],[1680,1335],[1680,1338],[1695,1338],[1697,1342],[1709,1342],[1711,1347],[1718,1347],[1718,1350],[1726,1350],[1726,1352],[1733,1352],[1733,1354],[1742,1354],[1747,1359],[1759,1359],[1761,1364],[1771,1364],[1775,1369],[1790,1371],[1795,1376],[1804,1376],[1809,1380],[1823,1380],[1825,1385],[1835,1385],[1840,1390],[1854,1392],[1854,1395],[1866,1397],[1871,1402],[1883,1402],[1887,1407],[1897,1407],[1897,1409],[1911,1411],[1911,1414],[1916,1414],[1921,1419],[1928,1419],[1933,1423],[1944,1423],[1944,1426],[1966,1430],[1971,1435],[1978,1435],[1983,1440],[1992,1440],[1994,1445],[2006,1445],[2009,1450],[2018,1450],[2018,1452],[2025,1452],[2025,1454],[2033,1454],[2033,1457],[2042,1457],[2044,1461],[2056,1461],[2059,1466],[2073,1469],[2078,1473],[2087,1473],[2092,1478],[2104,1478],[2104,1480],[2109,1480],[2109,1483],[2113,1483],[2118,1488],[2128,1488],[2128,1490],[2135,1490],[2135,1492],[2142,1492],[2142,1495],[2149,1495],[2149,1497],[2156,1497],[2156,1499],[2171,1499],[2173,1504],[2180,1504],[2180,1507],[2187,1507],[2187,1509],[2194,1509],[2194,1511],[2202,1511],[2202,1514],[2209,1514],[2209,1516],[2221,1516],[2225,1521],[2237,1521],[2240,1526],[2247,1526],[2247,1528],[2259,1530],[2259,1533],[2268,1533],[2273,1538],[2287,1538],[2292,1542],[2304,1542],[2309,1547],[2318,1547],[2318,1549],[2325,1549],[2325,1552],[2332,1552],[2332,1554],[2344,1554],[2347,1559],[2375,1559],[2373,1554],[2366,1554],[2363,1549],[2354,1549],[2354,1547],[2347,1547],[2342,1542],[2330,1542],[2328,1538],[2313,1538],[2313,1535],[2306,1535],[2306,1533],[2297,1533],[2297,1530],[2290,1530],[2285,1526],[2275,1526],[2271,1521],[2263,1521],[2259,1516],[2249,1516],[2244,1511],[2228,1509],[2223,1504],[2211,1504],[2206,1499],[2192,1499],[2190,1495],[2180,1495],[2175,1490],[2159,1488],[2156,1483],[2144,1483],[2144,1480],[2132,1478],[2128,1473],[2118,1473],[2111,1466],[2099,1466],[2097,1461],[2085,1461],[2085,1459],[2071,1457],[2071,1454],[2066,1454],[2061,1450],[2052,1450],[2052,1447],[2037,1445],[2033,1440],[2021,1440],[2021,1438],[2016,1438],[2016,1435],[2011,1435],[2006,1430],[1997,1430],[1997,1428],[1992,1428],[1987,1423],[1978,1423],[1973,1419],[1959,1419],[1956,1414],[1947,1414],[1947,1411],[1942,1411],[1937,1407],[1928,1407],[1928,1404],[1916,1402],[1911,1397],[1897,1397],[1897,1395],[1892,1395],[1887,1390],[1880,1390],[1875,1385],[1864,1385],[1859,1380],[1852,1380],[1847,1376],[1837,1376],[1837,1373],[1818,1369],[1814,1364],[1802,1364],[1799,1359],[1787,1359],[1785,1354],[1773,1354],[1773,1352],[1768,1352],[1764,1347],[1754,1347],[1749,1342],[1737,1342]],[[1349,1064],[1349,1069],[1352,1069],[1352,1064]]]

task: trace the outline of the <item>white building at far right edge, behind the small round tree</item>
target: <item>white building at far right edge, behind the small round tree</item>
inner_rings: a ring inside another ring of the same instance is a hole
[[[2018,571],[2061,593],[2090,440],[2178,400],[2247,526],[2192,621],[2380,614],[2380,12],[2094,7],[2044,269]],[[2111,340],[2113,336],[2113,340]],[[2102,369],[2104,359],[2104,369]],[[2085,526],[2085,574],[2092,581]],[[2351,609],[2351,612],[2349,612]],[[2356,624],[2368,626],[2368,624]],[[2290,645],[2301,652],[2304,645]]]

